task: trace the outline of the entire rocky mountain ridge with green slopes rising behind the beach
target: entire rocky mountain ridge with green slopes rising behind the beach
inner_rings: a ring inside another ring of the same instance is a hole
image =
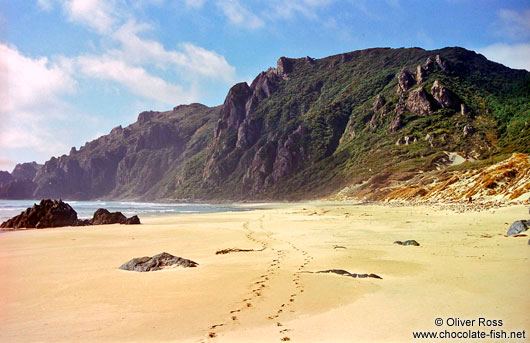
[[[528,153],[529,100],[530,73],[462,48],[281,57],[221,106],[140,113],[42,167],[15,168],[0,190],[16,178],[34,198],[318,198],[435,170],[442,151]]]

